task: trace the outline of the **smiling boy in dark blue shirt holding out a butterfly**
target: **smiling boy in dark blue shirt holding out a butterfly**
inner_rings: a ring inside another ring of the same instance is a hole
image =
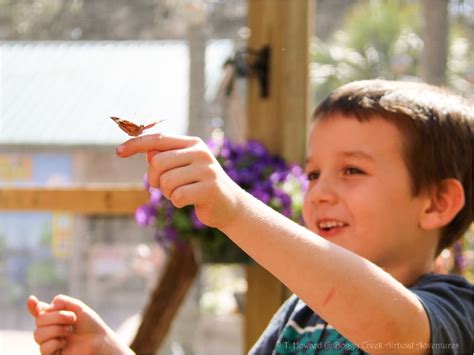
[[[151,186],[193,204],[298,296],[251,353],[465,353],[473,286],[431,271],[472,222],[473,122],[470,104],[424,84],[334,91],[310,132],[307,229],[241,190],[199,139],[142,136],[117,154],[147,153]],[[78,300],[28,308],[44,354],[130,351]]]

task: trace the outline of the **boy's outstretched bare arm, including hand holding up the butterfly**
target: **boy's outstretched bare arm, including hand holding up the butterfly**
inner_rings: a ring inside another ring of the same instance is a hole
[[[408,289],[243,191],[201,140],[156,134],[117,148],[120,157],[136,153],[147,154],[151,186],[177,207],[193,204],[204,224],[222,230],[361,349],[387,353],[373,345],[430,341],[427,314]]]

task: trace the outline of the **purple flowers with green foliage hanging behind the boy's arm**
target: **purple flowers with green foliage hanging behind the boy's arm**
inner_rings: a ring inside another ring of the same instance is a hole
[[[256,141],[240,145],[217,135],[208,146],[240,187],[283,215],[301,221],[306,179],[299,166],[271,155]],[[245,259],[238,256],[242,252],[219,230],[199,221],[193,206],[176,208],[158,189],[150,187],[146,178],[145,186],[150,199],[137,209],[135,218],[140,225],[156,227],[155,238],[163,247],[179,247],[191,241],[199,245],[202,254],[209,256],[207,259],[219,259],[222,254],[227,259]],[[229,253],[235,253],[235,258]]]

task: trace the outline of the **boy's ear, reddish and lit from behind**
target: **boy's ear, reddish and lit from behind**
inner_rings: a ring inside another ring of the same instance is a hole
[[[420,226],[425,230],[448,225],[464,206],[464,188],[457,179],[444,179],[429,190]]]

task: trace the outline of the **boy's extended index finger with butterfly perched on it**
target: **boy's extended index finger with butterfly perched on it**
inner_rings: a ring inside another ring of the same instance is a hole
[[[195,138],[162,133],[148,134],[129,139],[117,147],[117,155],[126,158],[137,153],[148,151],[167,151],[186,148],[196,142]]]

